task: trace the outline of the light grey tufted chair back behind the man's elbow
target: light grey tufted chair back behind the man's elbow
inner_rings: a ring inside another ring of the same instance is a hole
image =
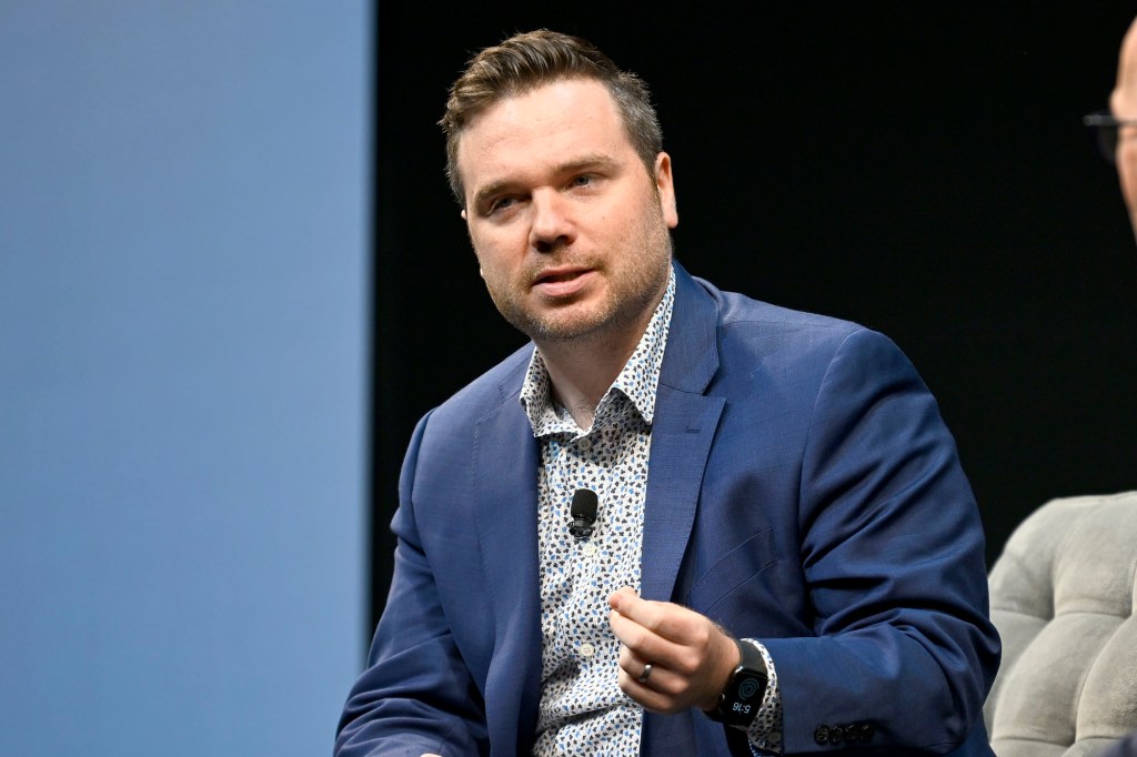
[[[1137,491],[1051,500],[1011,534],[989,575],[998,757],[1096,755],[1137,730],[1135,575]]]

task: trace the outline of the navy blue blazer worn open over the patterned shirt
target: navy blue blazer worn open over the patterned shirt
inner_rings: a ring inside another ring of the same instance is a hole
[[[877,332],[674,266],[641,594],[766,646],[788,754],[990,755],[984,532],[924,382]],[[532,349],[415,429],[392,585],[338,757],[530,752],[540,450],[517,398]],[[748,754],[728,731],[648,713],[641,754]]]

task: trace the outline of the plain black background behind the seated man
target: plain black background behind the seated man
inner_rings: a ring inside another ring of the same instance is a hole
[[[538,26],[648,82],[688,271],[912,358],[988,563],[1043,501],[1137,486],[1137,249],[1081,125],[1135,3],[570,7],[377,6],[372,622],[415,421],[523,342],[478,277],[435,122],[472,52]]]

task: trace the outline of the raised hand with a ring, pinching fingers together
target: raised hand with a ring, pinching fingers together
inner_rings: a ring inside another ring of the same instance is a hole
[[[655,713],[714,709],[741,662],[733,639],[709,618],[672,602],[641,599],[624,587],[608,594],[608,623],[620,639],[620,690]],[[645,667],[652,673],[640,681]]]

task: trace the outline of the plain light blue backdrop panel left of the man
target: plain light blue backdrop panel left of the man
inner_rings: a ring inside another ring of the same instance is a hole
[[[0,754],[330,752],[366,625],[370,13],[0,5]]]

